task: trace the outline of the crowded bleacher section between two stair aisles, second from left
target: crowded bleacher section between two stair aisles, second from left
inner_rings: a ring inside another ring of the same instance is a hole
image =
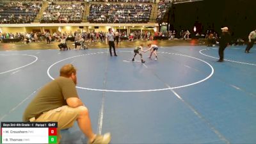
[[[41,23],[80,23],[83,19],[83,3],[51,3],[40,20]]]

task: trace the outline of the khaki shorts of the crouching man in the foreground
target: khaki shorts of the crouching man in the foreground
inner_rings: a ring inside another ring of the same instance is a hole
[[[69,106],[61,106],[60,108],[52,109],[50,111],[44,112],[38,118],[31,118],[30,122],[58,122],[58,143],[60,143],[61,129],[68,129],[74,125],[79,113],[83,111],[84,106],[79,106],[77,108],[71,108]]]

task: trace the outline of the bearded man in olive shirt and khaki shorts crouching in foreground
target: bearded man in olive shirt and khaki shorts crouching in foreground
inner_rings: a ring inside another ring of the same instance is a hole
[[[24,122],[58,122],[58,143],[61,129],[68,129],[77,121],[79,128],[88,138],[88,143],[108,144],[111,140],[109,133],[96,135],[88,108],[77,95],[77,70],[67,64],[61,67],[60,77],[46,84],[26,108]]]

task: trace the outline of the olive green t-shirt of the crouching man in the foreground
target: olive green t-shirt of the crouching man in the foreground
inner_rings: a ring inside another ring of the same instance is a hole
[[[54,79],[30,102],[23,114],[23,121],[28,122],[30,118],[38,118],[45,111],[67,105],[69,97],[78,97],[74,81],[67,77]]]

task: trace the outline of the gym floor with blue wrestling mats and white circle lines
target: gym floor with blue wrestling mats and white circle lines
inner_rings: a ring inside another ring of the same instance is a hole
[[[111,132],[111,143],[256,143],[255,46],[249,54],[246,45],[230,46],[219,63],[218,47],[204,42],[152,41],[158,60],[146,52],[144,64],[132,62],[141,43],[149,42],[122,42],[117,57],[104,42],[76,51],[0,44],[0,121],[22,121],[38,90],[72,63],[93,131]],[[76,124],[61,135],[61,143],[87,141]]]

